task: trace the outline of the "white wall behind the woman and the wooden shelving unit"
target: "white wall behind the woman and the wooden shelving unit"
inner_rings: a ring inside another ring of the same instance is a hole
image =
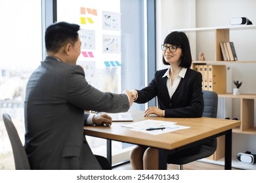
[[[169,29],[192,27],[227,27],[232,17],[245,16],[256,24],[256,1],[253,0],[161,0],[156,3],[156,43],[160,48]],[[238,59],[256,61],[256,29],[230,31],[230,41],[234,42]],[[196,33],[196,41],[190,40],[194,59],[204,52],[206,60],[215,60],[215,33],[205,31]],[[157,48],[158,48],[157,47]],[[196,48],[195,48],[196,47]],[[161,49],[157,50],[157,69],[161,63]],[[256,93],[256,63],[228,64],[232,78],[228,78],[228,92],[232,91],[232,80],[242,80],[243,93]],[[255,107],[256,111],[256,107]],[[228,117],[228,116],[227,116]],[[240,118],[240,101],[232,100],[232,116]],[[256,115],[255,120],[256,122]],[[255,125],[256,126],[256,125]],[[249,150],[256,154],[256,135],[234,134],[233,155]],[[238,139],[242,139],[238,141]],[[242,144],[243,145],[242,145]]]

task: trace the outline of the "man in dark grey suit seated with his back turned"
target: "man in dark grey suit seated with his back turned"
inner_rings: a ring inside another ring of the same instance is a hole
[[[26,87],[25,148],[32,169],[109,169],[106,158],[93,155],[84,125],[111,125],[106,114],[85,110],[126,112],[131,92],[100,92],[85,80],[77,58],[79,25],[59,22],[47,27],[47,58],[32,73]],[[100,161],[100,162],[98,162]]]

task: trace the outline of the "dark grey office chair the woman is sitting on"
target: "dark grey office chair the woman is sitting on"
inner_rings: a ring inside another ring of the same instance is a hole
[[[203,90],[203,117],[216,118],[218,108],[218,95],[215,92]],[[191,163],[198,159],[207,158],[211,156],[217,148],[217,138],[206,141],[202,144],[200,152],[191,156],[184,156],[181,158],[172,159],[169,164],[179,165],[179,169],[182,170],[182,165]]]

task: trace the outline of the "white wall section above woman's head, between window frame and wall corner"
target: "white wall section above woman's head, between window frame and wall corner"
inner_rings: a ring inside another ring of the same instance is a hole
[[[161,44],[169,29],[181,29],[196,26],[196,0],[157,0],[156,1],[156,67],[163,65]]]

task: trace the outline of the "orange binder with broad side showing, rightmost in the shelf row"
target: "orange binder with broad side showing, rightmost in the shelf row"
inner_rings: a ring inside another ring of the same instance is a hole
[[[208,65],[208,90],[226,93],[226,65]]]

